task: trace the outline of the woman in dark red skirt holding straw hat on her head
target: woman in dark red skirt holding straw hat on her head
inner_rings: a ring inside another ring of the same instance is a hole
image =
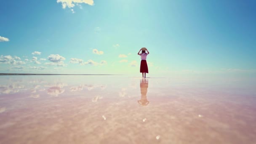
[[[141,56],[141,67],[140,67],[140,72],[142,72],[142,77],[146,78],[146,73],[149,73],[149,70],[147,68],[147,55],[149,54],[149,51],[147,51],[147,48],[141,48],[139,52],[142,51],[141,53],[138,53],[138,55]],[[147,53],[146,53],[147,51]],[[145,75],[144,75],[145,74]]]

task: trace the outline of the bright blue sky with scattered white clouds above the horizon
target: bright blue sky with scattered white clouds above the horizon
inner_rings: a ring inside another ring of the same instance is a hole
[[[76,1],[1,0],[0,73],[255,76],[254,0]]]

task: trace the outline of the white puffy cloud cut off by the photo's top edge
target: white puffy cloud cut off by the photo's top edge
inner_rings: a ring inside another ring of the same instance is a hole
[[[61,3],[63,9],[65,9],[66,7],[73,8],[75,7],[75,4],[79,3],[85,3],[88,5],[94,4],[93,0],[57,0],[57,3]]]

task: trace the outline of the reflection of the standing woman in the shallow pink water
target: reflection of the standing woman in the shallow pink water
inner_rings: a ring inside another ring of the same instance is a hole
[[[141,87],[141,99],[138,100],[138,103],[142,106],[147,106],[149,101],[147,100],[147,88],[149,86],[148,80],[145,78],[140,80],[140,87]]]

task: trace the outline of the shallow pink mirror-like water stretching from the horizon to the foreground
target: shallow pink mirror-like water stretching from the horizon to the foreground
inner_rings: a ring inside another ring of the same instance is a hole
[[[0,76],[0,144],[255,144],[256,83]]]

